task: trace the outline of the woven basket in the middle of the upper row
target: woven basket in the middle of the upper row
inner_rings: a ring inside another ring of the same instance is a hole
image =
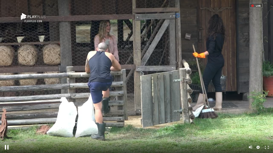
[[[21,65],[35,65],[38,59],[38,50],[33,45],[22,45],[18,49],[18,62]]]

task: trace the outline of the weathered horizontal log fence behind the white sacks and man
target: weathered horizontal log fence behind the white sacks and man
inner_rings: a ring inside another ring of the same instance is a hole
[[[116,96],[116,100],[109,101],[111,110],[107,116],[103,116],[106,127],[123,127],[124,121],[128,120],[127,115],[127,90],[125,69],[121,71],[111,71],[115,81],[111,87],[116,91],[110,91],[110,96]],[[87,83],[75,83],[76,78],[89,77],[89,73],[75,73],[73,67],[66,67],[66,73],[51,74],[19,74],[5,75],[0,77],[4,80],[26,80],[26,79],[48,79],[48,78],[67,78],[64,84],[48,84],[33,86],[2,86],[0,92],[15,91],[39,91],[39,90],[68,90],[67,93],[35,96],[14,96],[0,97],[0,112],[7,110],[8,125],[32,125],[55,123],[58,115],[60,98],[66,97],[68,101],[74,102],[75,106],[82,106],[84,102],[76,102],[76,99],[89,98],[90,93],[75,93],[76,88],[88,88]],[[116,107],[116,109],[115,109]],[[55,109],[55,111],[43,111]],[[39,112],[31,112],[31,111]],[[26,112],[30,111],[30,112]],[[2,116],[0,114],[0,116]],[[78,117],[77,117],[78,118]],[[76,121],[77,121],[76,118]]]

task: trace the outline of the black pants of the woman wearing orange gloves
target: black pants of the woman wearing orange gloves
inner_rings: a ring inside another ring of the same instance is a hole
[[[215,92],[222,92],[220,78],[222,75],[222,69],[224,67],[224,63],[222,64],[212,64],[207,63],[206,68],[203,73],[203,81],[207,93],[208,85],[210,84],[211,80],[215,88]],[[200,93],[203,93],[202,90]]]

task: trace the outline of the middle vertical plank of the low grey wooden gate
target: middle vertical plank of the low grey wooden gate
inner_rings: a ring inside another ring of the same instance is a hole
[[[164,99],[164,73],[157,73],[158,100],[159,100],[159,124],[165,121],[165,99]]]

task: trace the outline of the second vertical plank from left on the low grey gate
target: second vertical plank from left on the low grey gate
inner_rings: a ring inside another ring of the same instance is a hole
[[[157,74],[152,75],[153,79],[153,125],[159,125],[159,89],[157,84]]]

